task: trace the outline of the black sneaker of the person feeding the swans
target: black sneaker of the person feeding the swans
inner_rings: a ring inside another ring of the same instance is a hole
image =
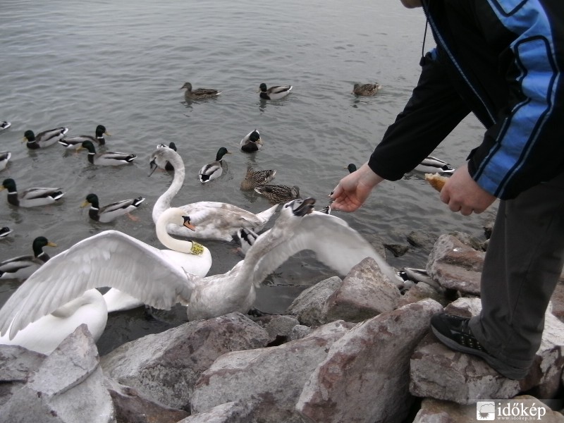
[[[465,317],[439,313],[431,317],[431,329],[439,341],[451,350],[482,357],[494,370],[508,379],[518,380],[527,376],[529,369],[510,366],[488,353],[472,335],[468,327],[469,321],[470,319]]]

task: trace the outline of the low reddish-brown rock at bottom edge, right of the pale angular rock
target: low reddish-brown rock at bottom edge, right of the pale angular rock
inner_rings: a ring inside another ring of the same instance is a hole
[[[118,422],[176,423],[190,413],[157,403],[130,386],[123,386],[109,378],[104,381],[116,410]]]

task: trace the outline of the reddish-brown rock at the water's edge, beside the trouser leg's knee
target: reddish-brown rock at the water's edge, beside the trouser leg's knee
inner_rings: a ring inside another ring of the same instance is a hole
[[[427,273],[443,288],[479,295],[484,255],[455,235],[441,235],[429,255]]]

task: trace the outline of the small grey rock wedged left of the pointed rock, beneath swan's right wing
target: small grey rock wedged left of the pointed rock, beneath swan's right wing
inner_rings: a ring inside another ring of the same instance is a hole
[[[316,283],[311,288],[303,290],[293,300],[286,312],[293,314],[305,326],[319,326],[323,324],[321,309],[323,309],[327,298],[341,286],[341,283],[343,281],[338,276],[333,276]]]

